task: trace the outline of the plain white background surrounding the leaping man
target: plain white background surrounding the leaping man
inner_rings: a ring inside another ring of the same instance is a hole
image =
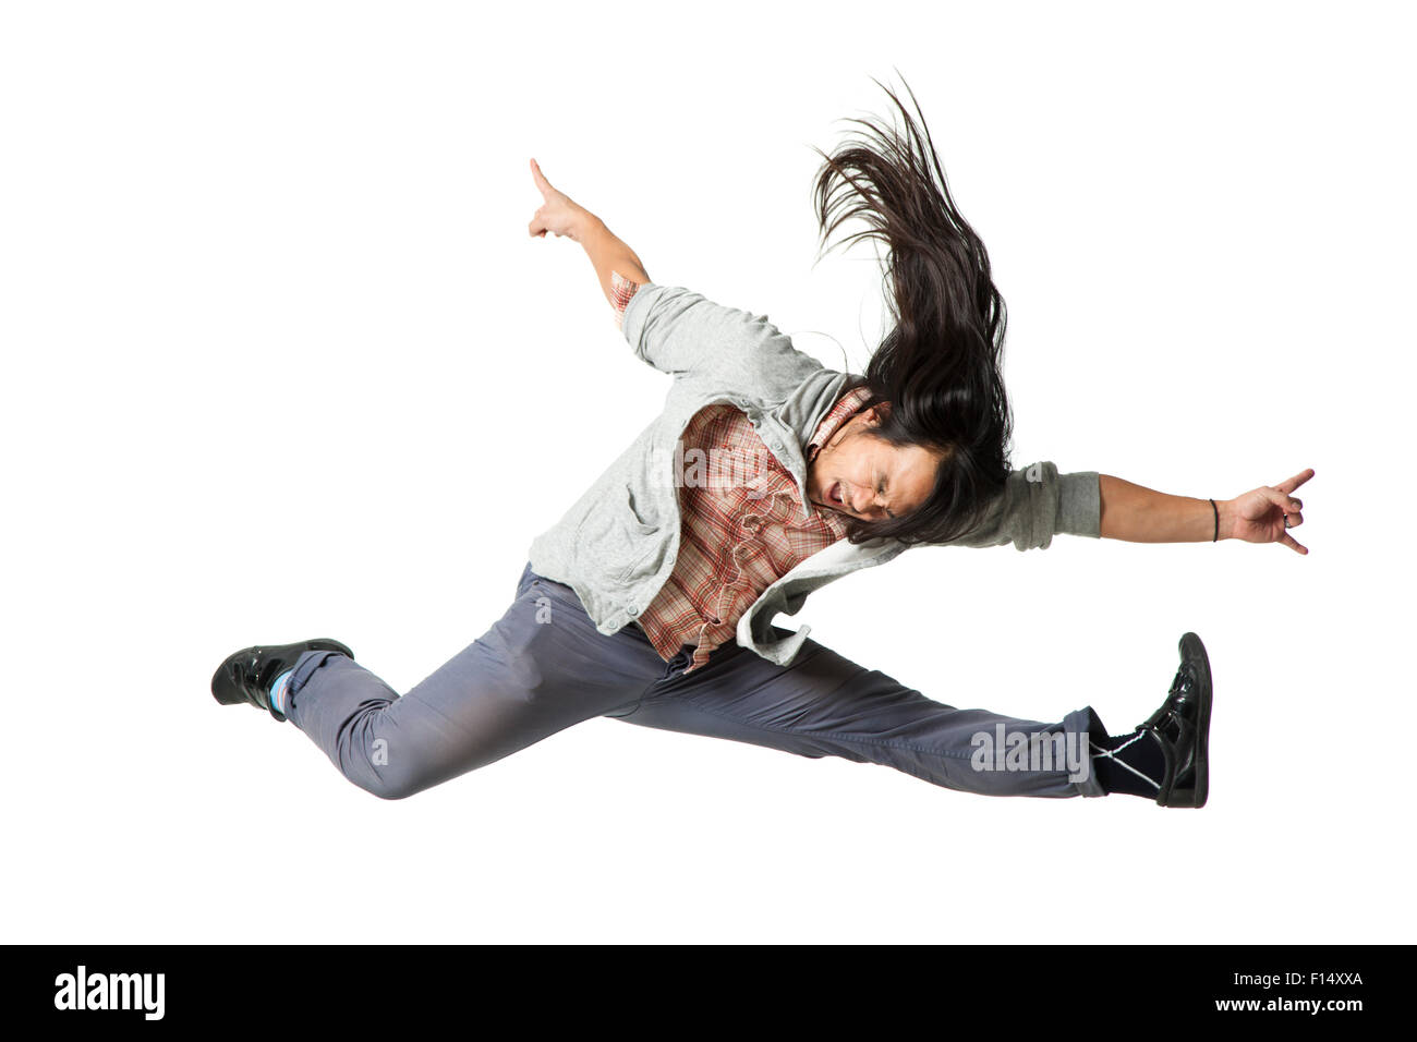
[[[1411,940],[1411,35],[1362,4],[7,4],[6,940]],[[656,282],[859,371],[879,267],[813,267],[812,149],[890,113],[871,77],[993,258],[1015,465],[1200,498],[1312,466],[1312,553],[927,549],[779,624],[1114,732],[1195,629],[1204,809],[608,719],[385,802],[213,702],[230,652],[315,635],[407,690],[657,413],[581,248],[529,237],[529,157]]]

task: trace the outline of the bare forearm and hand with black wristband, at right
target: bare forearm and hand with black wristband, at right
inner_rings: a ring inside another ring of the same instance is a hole
[[[1209,543],[1212,539],[1243,539],[1247,543],[1284,543],[1306,554],[1285,527],[1304,523],[1304,503],[1291,493],[1314,476],[1308,469],[1278,485],[1261,485],[1234,499],[1168,496],[1110,474],[1098,475],[1102,500],[1102,539],[1129,543]]]

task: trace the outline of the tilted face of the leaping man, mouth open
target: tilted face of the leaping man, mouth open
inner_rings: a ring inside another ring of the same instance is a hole
[[[818,506],[862,520],[904,517],[930,498],[944,459],[924,445],[890,445],[867,434],[884,418],[873,405],[847,420],[811,462],[808,495]]]

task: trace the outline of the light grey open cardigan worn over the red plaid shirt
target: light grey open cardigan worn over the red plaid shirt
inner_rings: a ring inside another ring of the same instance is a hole
[[[796,350],[767,315],[724,308],[680,286],[640,286],[625,308],[622,329],[636,356],[674,377],[663,411],[530,550],[531,570],[571,587],[606,635],[645,611],[674,570],[680,537],[674,451],[690,418],[720,401],[747,413],[796,481],[805,519],[812,509],[805,447],[850,381]],[[1100,522],[1097,471],[1060,475],[1051,462],[1039,462],[1013,471],[983,520],[939,546],[1047,549],[1060,532],[1097,539]],[[897,540],[853,546],[842,539],[812,554],[748,608],[738,621],[738,644],[788,665],[811,627],[781,638],[772,628],[778,612],[795,615],[813,590],[907,549]]]

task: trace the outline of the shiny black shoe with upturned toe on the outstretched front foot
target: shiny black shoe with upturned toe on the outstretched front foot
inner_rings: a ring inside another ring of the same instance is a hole
[[[1204,807],[1210,794],[1210,658],[1195,634],[1180,638],[1180,665],[1166,702],[1141,726],[1166,760],[1156,802]]]

